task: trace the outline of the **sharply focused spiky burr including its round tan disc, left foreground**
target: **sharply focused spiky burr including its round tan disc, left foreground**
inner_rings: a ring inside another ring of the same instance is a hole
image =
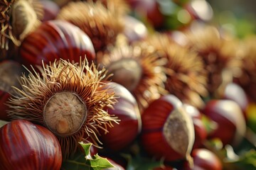
[[[68,157],[78,149],[78,142],[87,137],[100,142],[98,129],[107,131],[117,123],[117,118],[103,109],[116,101],[114,92],[108,92],[101,82],[105,78],[105,69],[98,71],[86,60],[79,64],[53,62],[43,67],[41,74],[30,72],[21,77],[22,89],[14,87],[9,116],[46,126],[58,137],[63,156]]]

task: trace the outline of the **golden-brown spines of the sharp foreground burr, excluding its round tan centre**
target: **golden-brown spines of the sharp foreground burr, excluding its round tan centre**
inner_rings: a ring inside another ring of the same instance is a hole
[[[78,149],[78,142],[90,140],[97,145],[98,129],[107,132],[117,118],[109,115],[103,108],[111,107],[116,102],[114,92],[105,88],[102,79],[106,78],[105,69],[98,71],[95,64],[87,60],[72,64],[59,60],[46,65],[41,74],[30,72],[28,77],[20,79],[22,89],[14,87],[15,94],[9,100],[8,114],[12,120],[25,119],[46,126],[43,120],[43,109],[51,96],[61,91],[70,91],[86,103],[87,118],[82,128],[73,135],[58,137],[63,157],[67,158]]]

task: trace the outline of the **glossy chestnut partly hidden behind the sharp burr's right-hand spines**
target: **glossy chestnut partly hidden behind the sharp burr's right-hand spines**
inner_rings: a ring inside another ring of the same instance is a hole
[[[114,91],[117,103],[113,108],[105,108],[110,115],[115,115],[120,120],[107,132],[101,132],[101,141],[105,148],[119,151],[131,144],[142,129],[142,120],[137,101],[134,96],[122,85],[106,81],[107,88]],[[112,92],[112,91],[110,91]]]

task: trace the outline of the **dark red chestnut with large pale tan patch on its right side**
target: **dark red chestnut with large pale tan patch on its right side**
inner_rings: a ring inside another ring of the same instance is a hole
[[[176,96],[168,94],[152,101],[142,113],[142,146],[156,159],[191,162],[193,121],[182,105]]]

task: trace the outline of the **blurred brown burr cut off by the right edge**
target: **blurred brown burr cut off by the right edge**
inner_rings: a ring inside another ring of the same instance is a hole
[[[242,72],[235,82],[246,91],[247,96],[256,102],[256,35],[242,40]]]

